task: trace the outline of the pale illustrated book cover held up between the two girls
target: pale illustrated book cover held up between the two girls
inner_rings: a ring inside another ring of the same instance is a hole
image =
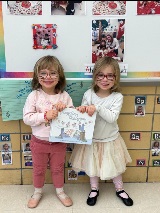
[[[89,116],[73,108],[66,108],[51,122],[50,142],[91,144],[96,113]]]

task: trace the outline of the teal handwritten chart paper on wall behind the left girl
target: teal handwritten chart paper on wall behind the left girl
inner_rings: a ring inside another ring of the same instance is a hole
[[[83,94],[90,85],[91,80],[87,79],[67,80],[66,91],[70,94],[75,107],[81,105]],[[23,118],[23,107],[31,91],[31,80],[2,80],[0,82],[3,121]]]

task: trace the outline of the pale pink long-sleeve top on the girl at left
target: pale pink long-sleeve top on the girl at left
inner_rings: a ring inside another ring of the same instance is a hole
[[[31,126],[32,134],[37,138],[49,139],[50,126],[45,126],[44,113],[53,109],[59,101],[67,107],[73,107],[72,99],[66,91],[48,95],[42,89],[38,89],[28,95],[23,108],[23,121]]]

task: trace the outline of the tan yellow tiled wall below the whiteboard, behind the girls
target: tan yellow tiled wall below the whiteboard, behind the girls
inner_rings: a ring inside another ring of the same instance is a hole
[[[152,133],[159,132],[160,104],[157,104],[157,97],[160,97],[160,86],[122,86],[124,103],[118,119],[120,133],[126,142],[126,146],[132,158],[132,163],[127,165],[123,174],[124,182],[159,182],[160,169],[153,166],[153,160],[160,160],[160,156],[152,156],[151,141]],[[134,101],[135,96],[146,96],[145,116],[135,117]],[[18,121],[2,121],[0,115],[0,135],[9,134],[12,144],[12,165],[0,163],[0,184],[32,184],[32,166],[25,166],[22,144],[30,142],[24,140],[24,135],[31,134],[31,128]],[[141,140],[130,140],[130,133],[140,132]],[[80,173],[77,180],[69,180],[68,159],[71,152],[66,152],[65,162],[65,183],[89,182],[89,177]],[[0,161],[1,161],[0,156]],[[137,160],[145,160],[145,165],[137,165]],[[102,181],[105,182],[105,181]],[[110,181],[107,181],[110,182]],[[50,170],[47,169],[46,183],[52,183]]]

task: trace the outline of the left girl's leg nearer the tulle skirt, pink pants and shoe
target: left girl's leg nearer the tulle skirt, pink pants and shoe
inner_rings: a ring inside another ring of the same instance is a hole
[[[50,169],[56,193],[64,206],[71,206],[72,200],[64,193],[64,162],[66,155],[66,144],[54,144],[54,152],[50,154]]]

